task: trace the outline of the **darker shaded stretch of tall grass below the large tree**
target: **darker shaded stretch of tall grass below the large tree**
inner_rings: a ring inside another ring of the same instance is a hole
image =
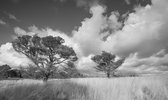
[[[47,83],[27,80],[7,86],[1,88],[0,100],[87,100],[88,97],[86,87],[67,80]]]

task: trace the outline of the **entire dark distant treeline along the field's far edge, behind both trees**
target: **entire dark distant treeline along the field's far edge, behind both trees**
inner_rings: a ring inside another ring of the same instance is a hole
[[[137,77],[139,74],[130,71],[115,71],[113,77]],[[88,76],[80,73],[76,68],[65,68],[60,72],[55,72],[50,75],[49,78],[84,78],[84,77],[95,77]],[[98,76],[100,77],[100,76]],[[29,66],[27,68],[20,67],[13,69],[9,65],[0,66],[0,79],[7,78],[31,78],[31,79],[42,79],[43,75],[37,67]]]

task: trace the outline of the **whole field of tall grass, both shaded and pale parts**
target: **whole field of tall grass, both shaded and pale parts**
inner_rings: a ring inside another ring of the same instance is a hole
[[[0,100],[168,100],[161,76],[0,81]]]

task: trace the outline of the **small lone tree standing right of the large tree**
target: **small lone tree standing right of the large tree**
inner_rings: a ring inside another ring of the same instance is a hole
[[[98,71],[105,72],[107,77],[110,78],[110,75],[114,75],[114,71],[122,65],[124,58],[115,61],[116,56],[103,51],[101,55],[93,56],[91,59],[98,64],[95,68]]]

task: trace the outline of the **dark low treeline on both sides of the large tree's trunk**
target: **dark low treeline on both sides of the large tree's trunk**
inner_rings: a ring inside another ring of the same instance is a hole
[[[66,70],[66,71],[65,71]],[[79,73],[76,69],[64,69],[62,72],[52,73],[50,78],[79,78],[84,77],[83,74]],[[37,67],[27,67],[13,69],[9,65],[0,66],[0,79],[5,78],[43,78],[42,73],[38,71]]]

